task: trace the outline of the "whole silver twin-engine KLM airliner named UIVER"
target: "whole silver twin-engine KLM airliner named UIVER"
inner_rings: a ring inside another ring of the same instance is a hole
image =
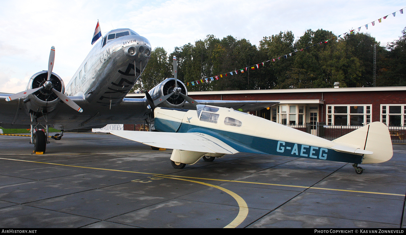
[[[63,131],[100,128],[107,124],[151,122],[153,113],[147,97],[125,98],[137,82],[151,55],[148,39],[128,28],[115,29],[94,44],[70,82],[52,73],[55,48],[51,47],[48,70],[32,75],[27,90],[17,94],[0,93],[0,125],[4,128],[30,128],[30,143],[36,152],[45,152],[50,126]],[[176,73],[176,71],[175,71]],[[176,78],[176,75],[174,76]],[[168,78],[152,88],[147,96],[159,100],[157,106],[195,109],[186,86]],[[200,104],[258,110],[275,104],[267,101],[205,101]],[[39,128],[45,129],[45,132]],[[34,134],[34,130],[38,129]]]

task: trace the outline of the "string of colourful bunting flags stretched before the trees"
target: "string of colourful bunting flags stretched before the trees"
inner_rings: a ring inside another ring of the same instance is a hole
[[[392,13],[393,17],[395,17],[395,13],[396,13],[396,12],[398,12],[398,11],[395,11],[394,13]],[[400,9],[399,12],[400,12],[400,14],[403,14],[403,9]],[[381,17],[381,18],[379,18],[379,19],[376,19],[376,20],[372,21],[370,24],[372,24],[372,26],[375,26],[375,21],[378,21],[379,23],[381,23],[381,22],[382,22],[382,18],[383,18],[383,19],[386,19],[388,16],[389,16],[389,15],[384,16],[384,17]],[[368,23],[368,24],[369,24],[369,23]],[[367,30],[368,30],[368,24],[365,24],[365,25],[364,25]],[[362,26],[358,27],[358,32],[361,30],[361,27],[362,27]],[[348,32],[345,32],[345,33],[343,33],[343,34],[338,35],[337,40],[341,37],[341,35],[352,34],[352,33],[354,33],[354,29],[348,30]],[[335,38],[336,38],[336,37],[332,37],[332,38],[330,38],[330,39],[321,41],[320,43],[316,43],[316,44],[314,44],[314,45],[311,45],[311,46],[302,48],[302,49],[300,49],[300,50],[295,50],[294,52],[291,52],[291,53],[289,53],[289,54],[286,54],[286,55],[283,55],[283,56],[278,56],[278,57],[276,57],[276,58],[272,58],[272,59],[270,59],[270,60],[264,61],[264,62],[262,62],[262,63],[258,63],[258,64],[256,64],[256,65],[250,65],[250,66],[245,67],[245,68],[242,68],[242,69],[236,69],[236,70],[234,70],[234,71],[230,71],[230,72],[227,72],[227,73],[222,73],[222,74],[220,74],[220,75],[216,75],[216,76],[213,76],[213,77],[210,77],[210,78],[202,78],[202,79],[197,80],[197,81],[187,82],[187,86],[189,86],[189,84],[192,85],[192,86],[195,86],[196,84],[201,84],[201,83],[203,83],[203,82],[209,83],[209,82],[212,82],[212,81],[214,81],[214,80],[218,80],[219,78],[222,78],[223,76],[227,76],[227,74],[230,74],[230,75],[236,74],[236,75],[237,75],[237,74],[240,74],[240,73],[246,73],[246,72],[247,72],[248,70],[250,70],[250,69],[251,69],[251,70],[259,69],[259,65],[262,65],[262,67],[264,67],[264,66],[265,66],[265,63],[267,63],[267,62],[275,62],[276,60],[281,60],[281,58],[287,59],[288,56],[292,56],[292,54],[295,53],[295,52],[302,52],[302,51],[305,50],[305,49],[309,49],[309,47],[313,47],[313,46],[316,46],[316,45],[322,45],[323,43],[327,43],[327,42],[330,41],[330,40],[332,41],[332,40],[335,39]]]

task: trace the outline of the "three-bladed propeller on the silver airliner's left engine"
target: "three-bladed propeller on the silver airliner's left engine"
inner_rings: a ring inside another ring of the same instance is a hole
[[[50,52],[50,58],[48,60],[48,78],[47,81],[40,87],[38,88],[33,88],[27,91],[22,91],[19,92],[17,94],[11,95],[9,97],[6,98],[6,101],[11,101],[14,99],[19,99],[22,97],[25,97],[27,95],[30,95],[36,91],[42,90],[42,89],[46,89],[46,90],[51,90],[52,92],[55,93],[56,96],[58,96],[59,99],[61,99],[64,103],[66,103],[69,107],[73,108],[74,110],[78,111],[78,112],[83,112],[83,109],[80,108],[75,102],[73,102],[69,97],[67,97],[66,95],[60,93],[59,91],[56,91],[54,89],[54,86],[52,85],[51,82],[51,74],[52,74],[52,69],[54,68],[54,61],[55,61],[55,47],[52,46],[51,47],[51,52]]]

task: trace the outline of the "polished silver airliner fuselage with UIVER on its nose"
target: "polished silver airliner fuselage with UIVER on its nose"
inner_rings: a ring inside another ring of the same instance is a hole
[[[95,44],[67,83],[65,94],[95,105],[115,105],[145,69],[151,44],[128,28],[108,32]]]

